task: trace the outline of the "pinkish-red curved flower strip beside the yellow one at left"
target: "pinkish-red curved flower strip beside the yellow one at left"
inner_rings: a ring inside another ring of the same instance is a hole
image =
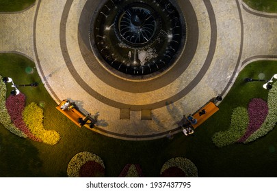
[[[10,118],[16,128],[24,132],[32,140],[41,141],[40,138],[37,138],[30,132],[29,128],[27,128],[25,122],[23,121],[22,113],[25,108],[25,95],[23,93],[10,95],[5,102],[5,107],[7,108]]]

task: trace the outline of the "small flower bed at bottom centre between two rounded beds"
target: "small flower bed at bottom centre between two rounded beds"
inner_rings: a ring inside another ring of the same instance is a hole
[[[144,177],[140,164],[126,164],[118,177]]]

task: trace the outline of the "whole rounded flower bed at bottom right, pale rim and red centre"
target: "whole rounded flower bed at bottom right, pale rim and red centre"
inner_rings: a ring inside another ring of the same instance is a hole
[[[172,158],[161,167],[161,177],[198,177],[195,164],[187,158]]]

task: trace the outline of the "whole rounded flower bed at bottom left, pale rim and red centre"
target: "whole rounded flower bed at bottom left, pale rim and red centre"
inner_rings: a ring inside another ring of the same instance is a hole
[[[77,153],[68,163],[68,177],[104,177],[105,165],[94,153]]]

